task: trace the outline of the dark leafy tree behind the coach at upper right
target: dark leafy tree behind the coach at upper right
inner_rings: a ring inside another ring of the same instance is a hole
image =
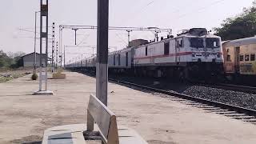
[[[222,40],[253,37],[256,34],[256,0],[250,8],[244,8],[235,18],[226,18],[221,27],[214,28]]]

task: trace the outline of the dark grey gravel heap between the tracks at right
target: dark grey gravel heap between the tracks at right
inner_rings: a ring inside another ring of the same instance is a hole
[[[256,110],[256,94],[246,94],[232,90],[221,90],[205,86],[191,86],[185,90],[183,94]]]

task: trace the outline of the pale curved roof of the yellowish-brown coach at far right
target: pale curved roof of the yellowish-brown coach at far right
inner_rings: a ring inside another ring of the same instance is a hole
[[[231,40],[231,41],[223,42],[223,44],[225,44],[225,46],[227,46],[227,47],[256,44],[256,37]]]

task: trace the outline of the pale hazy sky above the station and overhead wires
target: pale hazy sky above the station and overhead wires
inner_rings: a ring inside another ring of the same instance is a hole
[[[226,18],[242,13],[254,0],[110,0],[109,25],[170,28],[179,30],[205,27],[212,30]],[[34,51],[34,12],[40,0],[1,0],[0,50]],[[39,14],[38,14],[39,19]],[[49,26],[55,22],[55,40],[59,25],[97,25],[97,0],[49,0]],[[39,25],[39,21],[37,22]],[[22,29],[22,30],[21,30]],[[37,29],[39,31],[39,27]],[[51,27],[49,34],[51,34]],[[166,33],[160,34],[166,37]],[[39,36],[39,35],[38,35]],[[79,46],[96,46],[96,30],[78,30]],[[51,37],[50,37],[51,38]],[[130,39],[154,39],[148,31],[133,31]],[[126,31],[110,30],[109,46],[121,50],[127,45]],[[74,30],[63,30],[62,46],[74,46]],[[39,41],[37,41],[37,51]],[[51,50],[51,43],[49,44]],[[95,51],[95,50],[94,50]],[[112,51],[112,50],[110,50]],[[66,61],[89,57],[90,47],[66,47]]]

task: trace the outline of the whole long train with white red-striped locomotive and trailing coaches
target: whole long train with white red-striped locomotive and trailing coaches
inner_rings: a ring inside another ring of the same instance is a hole
[[[186,80],[210,80],[223,74],[221,38],[205,28],[183,30],[176,38],[134,43],[109,54],[110,73]],[[86,58],[81,66],[95,70],[95,58]]]

